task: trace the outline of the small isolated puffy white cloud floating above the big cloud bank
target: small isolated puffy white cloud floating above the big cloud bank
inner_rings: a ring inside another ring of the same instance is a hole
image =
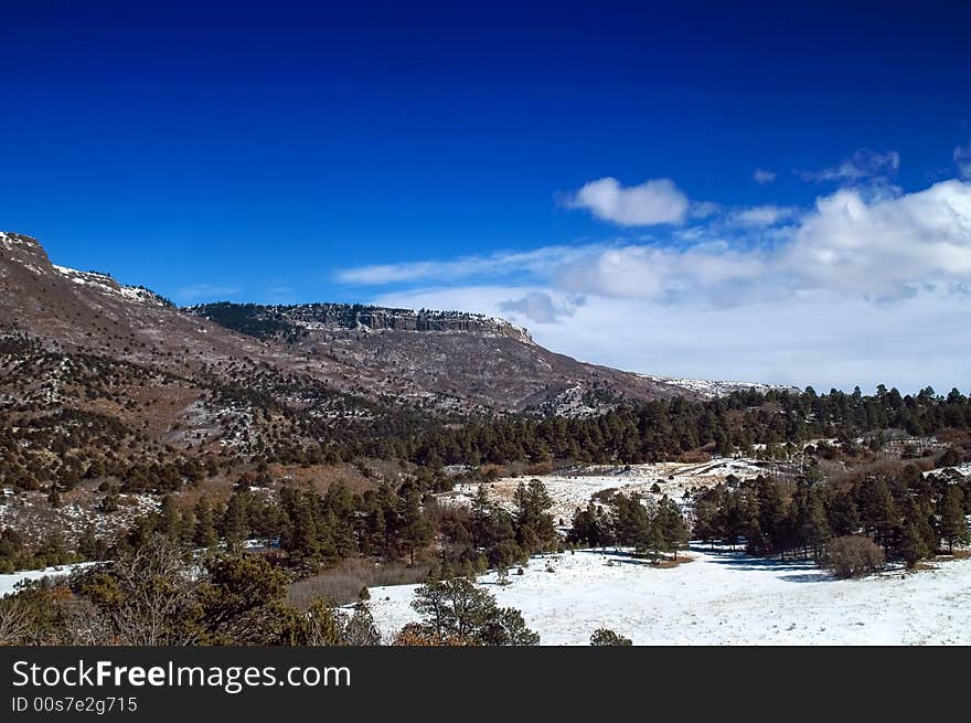
[[[586,209],[598,219],[621,226],[680,223],[689,210],[687,196],[670,179],[625,188],[615,178],[601,178],[568,196],[565,205]]]

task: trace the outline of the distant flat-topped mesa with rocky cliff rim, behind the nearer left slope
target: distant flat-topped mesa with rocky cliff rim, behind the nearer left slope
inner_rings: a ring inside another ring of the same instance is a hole
[[[551,352],[524,329],[466,312],[225,302],[186,311],[271,339],[298,357],[350,366],[356,394],[387,395],[435,412],[576,416],[599,413],[622,398],[682,392]]]

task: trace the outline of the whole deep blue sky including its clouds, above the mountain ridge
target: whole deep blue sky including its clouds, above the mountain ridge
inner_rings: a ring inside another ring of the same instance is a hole
[[[0,28],[0,227],[55,263],[971,387],[967,6],[78,4]]]

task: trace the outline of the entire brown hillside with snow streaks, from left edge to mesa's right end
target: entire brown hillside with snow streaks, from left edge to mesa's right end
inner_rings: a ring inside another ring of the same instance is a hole
[[[0,233],[0,295],[9,424],[49,428],[67,415],[152,451],[257,454],[414,415],[584,416],[683,391],[577,362],[505,321],[463,312],[178,309],[107,274],[54,265],[36,240],[13,233]],[[47,434],[65,434],[65,424]]]

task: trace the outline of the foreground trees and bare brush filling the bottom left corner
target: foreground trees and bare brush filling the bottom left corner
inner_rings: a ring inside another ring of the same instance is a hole
[[[199,554],[151,535],[65,583],[0,598],[0,645],[377,645],[365,600],[287,604],[286,571],[256,554]]]

